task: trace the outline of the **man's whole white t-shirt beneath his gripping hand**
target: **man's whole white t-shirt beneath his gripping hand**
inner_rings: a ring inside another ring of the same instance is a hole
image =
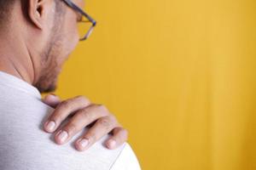
[[[43,124],[54,109],[27,82],[0,71],[0,169],[1,170],[140,170],[130,144],[108,150],[104,136],[88,150],[74,148],[76,134],[67,144],[54,142]]]

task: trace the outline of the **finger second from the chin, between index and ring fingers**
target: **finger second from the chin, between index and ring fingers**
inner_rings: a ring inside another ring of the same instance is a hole
[[[64,144],[71,139],[82,128],[89,125],[91,122],[101,120],[101,117],[107,116],[108,112],[102,110],[102,106],[90,105],[79,110],[64,127],[55,134],[55,142]],[[104,120],[103,120],[104,121]],[[98,133],[98,132],[97,132]]]

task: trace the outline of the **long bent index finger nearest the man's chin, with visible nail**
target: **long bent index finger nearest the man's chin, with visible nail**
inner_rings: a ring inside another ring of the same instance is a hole
[[[74,112],[79,111],[88,105],[90,105],[90,100],[84,98],[84,96],[77,96],[73,99],[62,101],[44,123],[44,130],[49,133],[54,132],[67,116],[72,115]]]

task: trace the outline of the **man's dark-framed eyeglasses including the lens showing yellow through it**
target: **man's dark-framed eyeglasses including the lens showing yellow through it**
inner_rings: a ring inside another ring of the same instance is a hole
[[[91,32],[96,26],[96,20],[93,20],[89,14],[86,14],[82,8],[79,8],[76,4],[74,4],[71,0],[63,0],[70,8],[73,8],[80,14],[79,18],[79,36],[80,41],[86,40],[90,37]],[[86,30],[85,34],[84,31]]]

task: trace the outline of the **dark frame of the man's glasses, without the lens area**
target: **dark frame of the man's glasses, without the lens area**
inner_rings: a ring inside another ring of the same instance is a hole
[[[86,14],[82,8],[79,8],[75,3],[73,3],[71,0],[63,0],[70,8],[73,8],[75,11],[79,12],[79,14],[84,15],[84,17],[90,21],[91,26],[90,29],[86,32],[84,37],[80,38],[80,41],[86,40],[88,37],[90,37],[90,33],[93,31],[94,27],[96,26],[96,20],[92,19],[89,14]],[[83,22],[83,21],[82,21]]]

